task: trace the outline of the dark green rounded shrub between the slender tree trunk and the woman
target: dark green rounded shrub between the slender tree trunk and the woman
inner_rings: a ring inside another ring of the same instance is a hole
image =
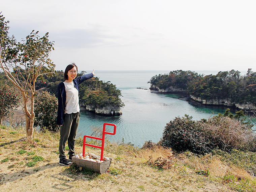
[[[41,130],[47,129],[57,131],[56,124],[58,110],[58,99],[47,91],[43,91],[35,99],[35,127],[40,126]]]

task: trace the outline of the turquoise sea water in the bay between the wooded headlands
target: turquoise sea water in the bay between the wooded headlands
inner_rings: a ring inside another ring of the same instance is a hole
[[[116,135],[109,135],[108,140],[131,142],[142,147],[148,140],[158,142],[162,137],[166,123],[185,114],[194,120],[209,118],[224,113],[224,107],[200,106],[180,100],[179,95],[151,93],[151,77],[169,71],[95,71],[102,81],[110,81],[121,90],[125,106],[122,115],[105,117],[81,110],[78,136],[90,135],[92,127],[103,127],[103,123],[117,125]],[[216,74],[218,71],[196,71],[204,74]],[[136,89],[143,88],[143,89]],[[113,130],[109,127],[110,131]]]

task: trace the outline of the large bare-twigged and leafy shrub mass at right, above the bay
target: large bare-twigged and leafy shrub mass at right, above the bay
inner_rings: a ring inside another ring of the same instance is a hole
[[[256,138],[251,126],[236,119],[216,116],[208,121],[194,121],[185,115],[166,124],[161,142],[178,152],[205,154],[216,148],[255,151]]]

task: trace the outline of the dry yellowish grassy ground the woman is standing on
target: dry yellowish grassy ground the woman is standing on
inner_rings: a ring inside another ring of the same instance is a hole
[[[106,143],[104,156],[112,158],[107,173],[72,172],[68,167],[59,165],[58,133],[35,133],[33,142],[19,141],[25,136],[25,130],[22,129],[0,128],[0,189],[3,192],[232,192],[240,190],[241,187],[244,191],[256,190],[255,183],[253,184],[254,177],[241,168],[221,161],[217,155],[207,154],[198,157],[190,152],[175,154],[170,149],[161,147],[137,149],[125,143]],[[19,151],[20,153],[17,153]],[[87,148],[87,151],[100,153],[98,149]],[[81,153],[82,146],[76,145],[76,152]],[[27,166],[34,156],[42,157],[43,161],[38,161],[33,167]],[[156,169],[147,163],[149,156],[153,161],[159,157],[171,157],[173,166],[170,169]],[[8,161],[4,161],[5,159]],[[207,169],[209,175],[196,173]]]

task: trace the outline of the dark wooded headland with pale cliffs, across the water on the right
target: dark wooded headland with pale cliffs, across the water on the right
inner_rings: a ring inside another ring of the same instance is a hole
[[[175,70],[153,76],[150,90],[182,93],[205,105],[226,106],[245,111],[256,109],[256,72],[220,71],[216,75]]]

